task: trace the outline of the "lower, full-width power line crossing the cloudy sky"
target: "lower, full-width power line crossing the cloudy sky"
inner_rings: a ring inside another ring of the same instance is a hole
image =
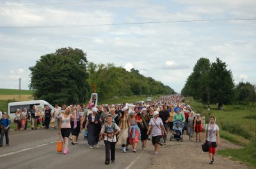
[[[158,21],[158,22],[133,22],[133,23],[116,23],[116,24],[87,24],[77,26],[6,26],[0,29],[44,29],[44,28],[69,28],[69,27],[97,27],[97,26],[122,26],[122,25],[141,25],[141,24],[168,24],[179,22],[205,22],[205,21],[231,21],[231,20],[256,20],[253,18],[223,18],[223,19],[202,19],[202,20],[172,20],[172,21]]]

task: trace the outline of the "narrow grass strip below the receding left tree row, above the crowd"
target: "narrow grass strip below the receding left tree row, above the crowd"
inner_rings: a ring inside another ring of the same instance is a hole
[[[157,99],[159,96],[149,96],[152,99]],[[146,95],[140,95],[140,96],[121,96],[118,98],[111,98],[111,99],[99,99],[99,104],[116,104],[116,103],[134,103],[136,101],[145,101],[146,103]]]

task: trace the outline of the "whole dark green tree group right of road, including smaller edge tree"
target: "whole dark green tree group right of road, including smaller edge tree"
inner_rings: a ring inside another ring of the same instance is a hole
[[[193,96],[204,104],[216,104],[222,109],[223,105],[231,103],[248,104],[256,100],[255,85],[249,82],[234,83],[232,71],[220,58],[210,62],[207,58],[200,58],[196,62],[193,72],[186,80],[181,93]]]

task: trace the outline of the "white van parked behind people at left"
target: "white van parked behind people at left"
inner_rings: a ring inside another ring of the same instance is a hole
[[[31,100],[31,101],[19,101],[19,102],[12,102],[8,103],[8,115],[10,117],[10,120],[13,121],[15,117],[15,112],[19,108],[21,111],[26,108],[28,110],[28,114],[30,114],[33,106],[42,106],[45,107],[48,105],[51,110],[54,110],[54,107],[50,103],[44,100]]]

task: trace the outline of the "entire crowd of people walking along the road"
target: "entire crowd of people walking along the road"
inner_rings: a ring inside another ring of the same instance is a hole
[[[84,128],[84,139],[88,141],[91,149],[99,147],[98,142],[104,141],[106,148],[106,165],[115,163],[116,144],[120,146],[122,152],[131,151],[136,153],[139,142],[142,143],[143,151],[147,151],[148,140],[154,145],[154,154],[158,154],[159,145],[164,145],[168,141],[167,133],[173,132],[175,121],[182,122],[182,134],[189,136],[189,140],[195,142],[209,142],[210,164],[214,161],[216,146],[220,143],[218,125],[215,124],[215,117],[211,117],[210,123],[205,125],[204,118],[200,114],[195,114],[193,107],[189,103],[184,103],[184,98],[179,95],[163,96],[150,103],[140,103],[126,105],[98,105],[90,101],[88,105],[55,105],[54,110],[48,106],[42,114],[36,115],[35,107],[31,111],[31,129],[40,128],[59,129],[59,134],[63,137],[63,154],[68,153],[68,140],[72,140],[72,145],[78,143],[78,136]],[[28,113],[26,109],[17,110],[15,114],[15,130],[26,129],[28,125]],[[3,114],[4,117],[4,114]],[[2,118],[4,119],[4,118]],[[4,128],[9,128],[10,124],[1,120]],[[202,138],[201,133],[205,129]],[[7,131],[7,130],[6,130]],[[8,134],[6,144],[8,144]],[[1,132],[2,133],[2,132]],[[194,139],[194,133],[196,138]],[[71,134],[71,137],[70,137]],[[170,135],[172,140],[173,135]],[[1,134],[1,144],[3,145]]]

